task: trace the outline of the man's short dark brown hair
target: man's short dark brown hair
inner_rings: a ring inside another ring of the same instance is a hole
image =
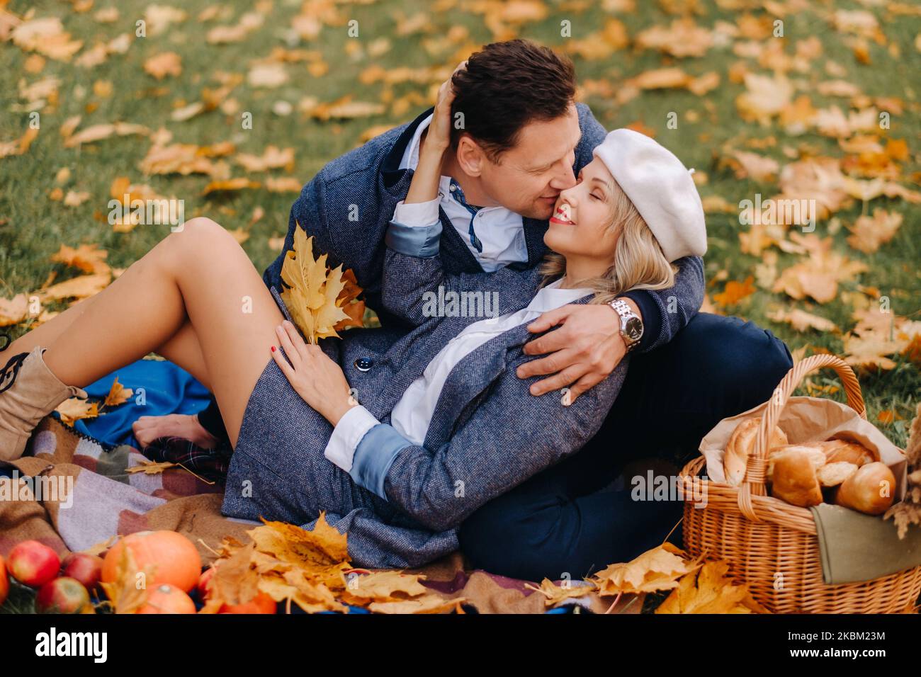
[[[457,149],[467,132],[498,162],[516,146],[525,125],[565,115],[576,96],[576,68],[568,57],[534,42],[493,42],[471,54],[451,83],[451,148]],[[458,112],[463,129],[457,128]]]

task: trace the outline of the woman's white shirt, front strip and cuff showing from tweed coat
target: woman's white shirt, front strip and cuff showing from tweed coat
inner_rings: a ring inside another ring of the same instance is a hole
[[[422,376],[415,379],[403,393],[391,412],[391,426],[404,438],[422,445],[435,413],[435,405],[451,370],[478,347],[519,324],[537,319],[543,312],[565,306],[591,294],[591,289],[561,289],[562,278],[542,287],[527,308],[496,318],[473,322],[452,338],[428,363]],[[332,430],[332,437],[323,454],[346,473],[352,470],[352,459],[362,438],[379,424],[361,405],[349,409]]]

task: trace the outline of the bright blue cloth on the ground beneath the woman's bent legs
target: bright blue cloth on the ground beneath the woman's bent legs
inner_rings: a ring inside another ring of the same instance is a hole
[[[131,425],[141,416],[194,414],[204,409],[210,393],[188,371],[165,360],[141,359],[91,383],[86,390],[90,401],[109,394],[112,381],[134,391],[128,402],[106,407],[98,418],[84,419],[74,426],[84,435],[106,445],[129,444],[138,448]]]

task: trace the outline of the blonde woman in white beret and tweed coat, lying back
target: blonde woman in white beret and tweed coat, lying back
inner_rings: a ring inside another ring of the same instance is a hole
[[[407,200],[435,196],[449,109],[439,100]],[[652,166],[637,175],[629,158]],[[657,235],[612,169],[661,216]],[[193,219],[96,297],[7,349],[0,451],[17,458],[76,384],[157,352],[215,392],[234,447],[224,514],[303,523],[327,511],[364,566],[418,566],[455,550],[472,511],[594,435],[624,379],[627,359],[575,402],[530,395],[531,379],[515,374],[527,322],[565,303],[671,286],[670,261],[702,254],[705,233],[680,161],[627,130],[609,134],[561,193],[545,235],[556,253],[541,271],[444,274],[437,228],[392,222],[388,233],[384,303],[417,325],[412,333],[387,344],[355,330],[318,346],[283,321],[277,291],[236,240]],[[437,286],[495,290],[502,314],[426,318],[424,294]]]

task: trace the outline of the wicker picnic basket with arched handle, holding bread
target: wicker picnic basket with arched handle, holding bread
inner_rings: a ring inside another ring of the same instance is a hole
[[[697,491],[704,490],[707,499],[705,508],[694,508],[690,498],[684,501],[684,547],[693,556],[704,554],[728,561],[729,574],[747,583],[752,597],[772,613],[900,613],[921,593],[921,566],[873,580],[826,585],[809,508],[767,496],[765,490],[767,431],[774,429],[799,382],[824,367],[834,368],[845,387],[848,405],[861,418],[867,418],[860,384],[845,361],[817,355],[799,362],[787,372],[765,406],[740,486],[697,477],[705,468],[704,456],[682,469],[685,496],[694,496],[689,483],[697,482]],[[783,572],[783,585],[775,589],[778,571]]]

